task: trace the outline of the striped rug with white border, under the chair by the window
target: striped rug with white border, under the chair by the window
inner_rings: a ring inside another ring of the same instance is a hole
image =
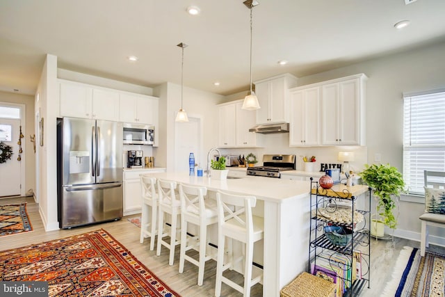
[[[445,296],[445,255],[405,246],[382,296]]]

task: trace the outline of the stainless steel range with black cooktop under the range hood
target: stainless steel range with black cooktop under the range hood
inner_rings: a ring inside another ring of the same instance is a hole
[[[261,177],[281,177],[281,171],[295,170],[295,154],[265,154],[263,156],[263,166],[249,167],[248,175]]]

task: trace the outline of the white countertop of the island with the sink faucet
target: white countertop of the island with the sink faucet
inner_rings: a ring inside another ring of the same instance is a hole
[[[245,170],[245,168],[244,168]],[[188,172],[154,172],[154,177],[170,179],[196,186],[207,186],[209,191],[229,191],[238,195],[254,195],[259,200],[282,202],[290,198],[309,197],[310,182],[271,177],[248,176],[236,179],[211,179],[189,176]]]

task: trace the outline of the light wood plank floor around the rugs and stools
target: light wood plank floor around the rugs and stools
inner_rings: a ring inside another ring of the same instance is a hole
[[[38,204],[35,204],[33,198],[7,198],[1,199],[0,204],[13,204],[27,202],[27,211],[30,216],[33,232],[24,234],[16,234],[13,236],[0,237],[0,250],[8,250],[10,248],[19,248],[32,243],[40,243],[42,241],[50,241],[60,239],[66,236],[81,234],[97,229],[104,229],[110,233],[115,239],[120,241],[140,262],[145,264],[150,271],[156,274],[168,286],[177,291],[182,296],[213,296],[215,288],[216,262],[210,260],[206,263],[204,273],[204,284],[197,286],[197,267],[186,262],[184,273],[178,273],[179,268],[179,248],[176,250],[175,264],[168,265],[168,250],[163,247],[161,256],[156,256],[156,249],[149,250],[149,239],[145,239],[143,244],[139,243],[140,229],[130,223],[127,218],[138,217],[139,215],[128,216],[110,223],[98,225],[89,225],[86,227],[76,227],[71,230],[56,230],[45,232],[42,220],[38,213]],[[419,248],[419,242],[408,241],[407,239],[394,238],[394,241],[371,239],[371,289],[364,289],[361,296],[376,297],[380,296],[380,292],[385,288],[385,284],[391,279],[392,266],[398,257],[398,253],[404,246],[412,246]],[[430,246],[430,249],[445,254],[445,248],[438,246]],[[226,275],[226,274],[225,274]],[[227,273],[228,277],[233,278],[239,283],[243,278],[234,271]],[[267,281],[267,280],[265,280]],[[234,289],[223,284],[222,296],[242,296]],[[251,296],[262,296],[261,284],[256,284],[252,288]]]

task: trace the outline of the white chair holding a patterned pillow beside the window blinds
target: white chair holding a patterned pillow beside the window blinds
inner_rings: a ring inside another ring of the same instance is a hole
[[[424,171],[425,187],[426,188],[445,188],[445,172]],[[427,191],[427,189],[425,190]],[[445,227],[445,215],[433,214],[426,212],[419,216],[422,222],[421,239],[420,239],[420,254],[425,257],[425,249],[428,248],[428,226]]]

